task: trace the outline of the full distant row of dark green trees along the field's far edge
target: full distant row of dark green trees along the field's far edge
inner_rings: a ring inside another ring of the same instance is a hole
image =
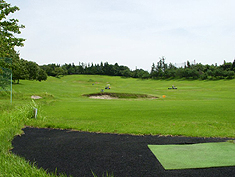
[[[201,63],[191,64],[186,62],[183,67],[176,67],[172,63],[165,63],[165,57],[159,58],[159,61],[152,64],[151,71],[143,69],[131,70],[127,66],[118,65],[118,63],[109,64],[101,62],[100,64],[79,63],[72,64],[48,64],[40,66],[48,76],[61,77],[72,74],[89,74],[89,75],[108,75],[122,76],[141,79],[233,79],[235,76],[235,60],[233,63],[226,62],[220,66],[203,65]]]

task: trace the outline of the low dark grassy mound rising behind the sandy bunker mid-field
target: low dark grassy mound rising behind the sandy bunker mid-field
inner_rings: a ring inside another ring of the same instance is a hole
[[[84,94],[83,96],[91,97],[91,96],[103,96],[108,95],[114,98],[158,98],[156,96],[151,96],[147,94],[136,94],[136,93],[91,93],[91,94]]]

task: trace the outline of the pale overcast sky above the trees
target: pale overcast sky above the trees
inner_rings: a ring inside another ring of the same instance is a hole
[[[234,0],[7,0],[26,28],[21,57],[38,64],[118,63],[150,70],[235,58]]]

